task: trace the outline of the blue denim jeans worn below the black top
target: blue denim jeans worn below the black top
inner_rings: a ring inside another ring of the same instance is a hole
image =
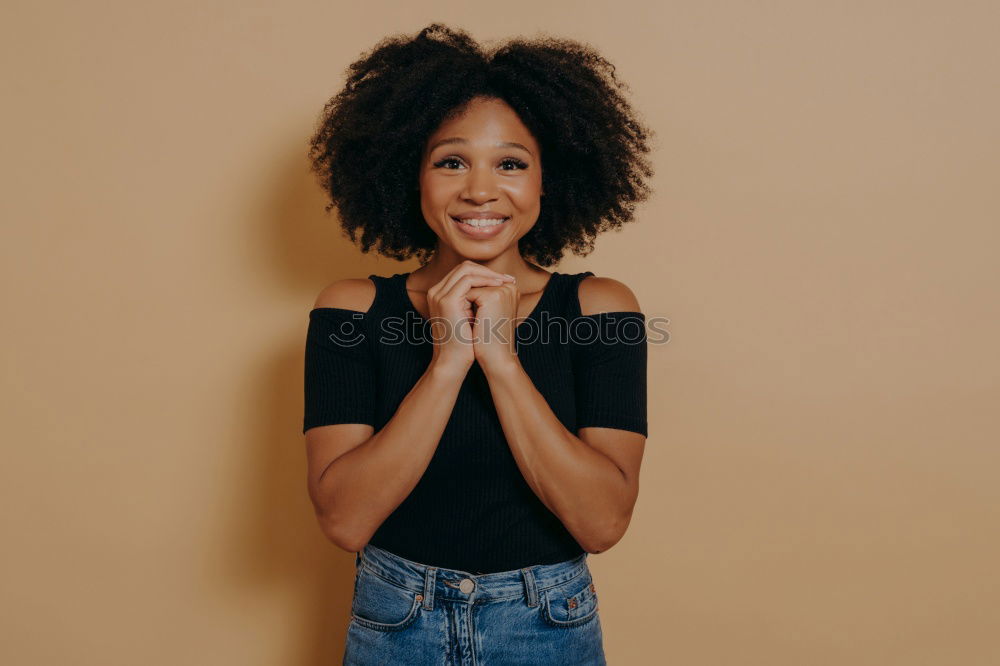
[[[474,575],[366,545],[345,666],[606,666],[587,553]]]

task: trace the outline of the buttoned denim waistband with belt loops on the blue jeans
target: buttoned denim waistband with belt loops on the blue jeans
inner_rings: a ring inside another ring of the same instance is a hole
[[[355,558],[377,576],[421,595],[423,606],[433,610],[435,600],[485,603],[522,597],[538,605],[538,593],[587,573],[587,553],[556,564],[536,564],[523,569],[471,574],[413,562],[377,546],[366,544]]]

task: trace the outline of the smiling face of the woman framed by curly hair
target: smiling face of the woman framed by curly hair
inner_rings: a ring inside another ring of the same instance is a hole
[[[538,221],[541,194],[538,142],[501,100],[472,100],[427,141],[420,206],[439,243],[460,257],[482,261],[517,252],[518,239]]]

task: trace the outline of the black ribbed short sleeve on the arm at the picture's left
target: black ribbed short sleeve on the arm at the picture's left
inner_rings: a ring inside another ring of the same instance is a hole
[[[375,426],[375,363],[364,317],[341,308],[309,313],[303,433],[337,423]]]

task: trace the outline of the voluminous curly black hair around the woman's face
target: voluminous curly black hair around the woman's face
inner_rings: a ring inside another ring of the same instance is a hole
[[[567,248],[586,256],[598,233],[633,219],[651,190],[646,159],[653,132],[622,92],[628,86],[597,51],[569,39],[477,44],[432,23],[390,36],[346,70],[310,139],[312,170],[361,251],[421,265],[437,236],[420,208],[419,169],[427,139],[473,98],[510,105],[541,148],[545,196],[538,221],[518,242],[541,266]]]

